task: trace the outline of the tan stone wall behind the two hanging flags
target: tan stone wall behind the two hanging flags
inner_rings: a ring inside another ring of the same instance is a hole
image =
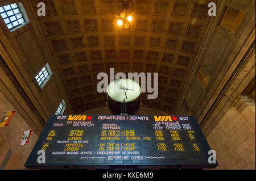
[[[0,116],[5,111],[14,111],[14,106],[0,91]],[[16,112],[8,127],[0,128],[0,170],[2,169],[26,169],[24,164],[34,147],[38,135],[32,132],[30,142],[19,146],[23,132],[31,128],[26,121]]]

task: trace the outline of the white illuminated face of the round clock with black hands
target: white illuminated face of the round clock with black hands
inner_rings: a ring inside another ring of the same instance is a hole
[[[132,102],[141,95],[141,87],[131,79],[118,79],[109,84],[108,95],[116,102]]]

